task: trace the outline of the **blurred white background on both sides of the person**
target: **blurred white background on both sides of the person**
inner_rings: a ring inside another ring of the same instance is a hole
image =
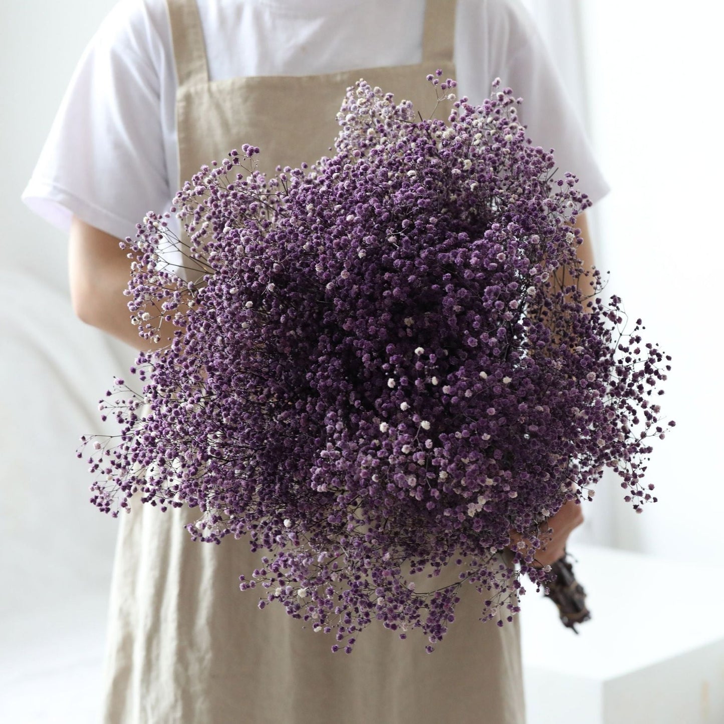
[[[718,562],[724,553],[720,9],[699,0],[527,4],[613,188],[593,214],[599,266],[612,271],[610,289],[633,318],[643,317],[647,338],[674,357],[663,403],[678,425],[656,445],[647,476],[660,501],[634,515],[607,480],[569,547],[578,536],[666,557],[675,576],[676,560]],[[80,434],[98,430],[98,398],[132,350],[74,318],[64,236],[30,214],[20,193],[80,52],[112,5],[0,4],[0,719],[22,693],[24,722],[65,721],[62,702],[73,702],[68,721],[94,720],[116,523],[89,505],[74,450]],[[703,599],[694,585],[692,597]],[[62,691],[53,689],[61,672],[73,682]],[[58,702],[50,718],[38,682]]]

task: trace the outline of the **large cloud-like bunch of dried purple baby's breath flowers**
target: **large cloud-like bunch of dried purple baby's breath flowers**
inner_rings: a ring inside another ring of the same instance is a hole
[[[93,502],[198,506],[196,539],[259,552],[242,589],[333,650],[373,620],[434,644],[465,584],[482,620],[512,620],[520,573],[547,571],[516,552],[501,578],[496,552],[511,529],[539,546],[536,526],[604,468],[637,512],[656,500],[641,478],[669,368],[618,298],[579,289],[602,290],[571,226],[589,201],[499,86],[446,123],[360,81],[331,158],[267,179],[244,146],[203,167],[171,210],[196,282],[163,261],[169,214],[127,240],[134,323],[176,331],[138,358],[143,392],[109,392],[123,432],[87,440]]]

